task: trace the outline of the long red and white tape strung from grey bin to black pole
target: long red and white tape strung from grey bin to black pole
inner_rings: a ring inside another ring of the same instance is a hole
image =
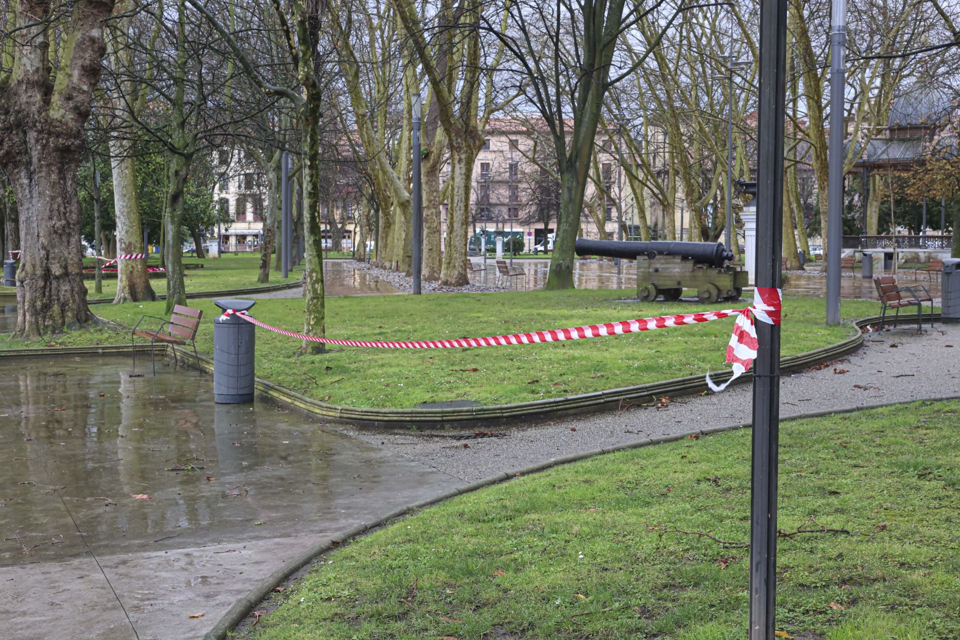
[[[707,376],[707,384],[713,391],[723,391],[730,383],[747,371],[756,358],[756,330],[754,318],[770,324],[780,324],[780,289],[757,287],[754,293],[753,306],[745,309],[724,309],[721,311],[706,311],[695,314],[680,314],[676,316],[659,316],[638,320],[621,320],[604,324],[589,324],[569,329],[551,329],[549,331],[534,331],[531,333],[514,333],[505,336],[491,336],[488,338],[457,338],[454,340],[423,340],[423,341],[391,341],[378,342],[366,340],[336,340],[333,338],[318,338],[307,336],[295,331],[287,331],[271,326],[261,320],[256,320],[246,311],[228,309],[220,316],[225,320],[230,316],[237,316],[258,327],[273,331],[282,336],[299,338],[312,343],[340,344],[342,346],[366,346],[384,349],[442,349],[462,348],[472,346],[506,346],[510,344],[539,344],[559,343],[568,340],[583,338],[600,338],[602,336],[617,336],[638,331],[652,331],[685,324],[699,324],[713,320],[722,320],[736,316],[733,324],[733,334],[727,346],[727,362],[732,363],[733,376],[723,385],[714,385]]]

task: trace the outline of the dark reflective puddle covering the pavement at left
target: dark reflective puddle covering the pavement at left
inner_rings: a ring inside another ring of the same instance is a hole
[[[336,532],[448,478],[267,403],[217,405],[197,371],[129,371],[4,363],[0,566]]]

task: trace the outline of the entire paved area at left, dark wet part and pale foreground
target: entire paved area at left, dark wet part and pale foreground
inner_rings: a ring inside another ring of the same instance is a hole
[[[4,363],[8,640],[199,638],[285,558],[464,484],[265,403],[216,405],[197,371],[129,369]]]

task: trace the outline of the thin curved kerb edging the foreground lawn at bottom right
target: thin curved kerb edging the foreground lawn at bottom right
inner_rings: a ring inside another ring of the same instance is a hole
[[[943,397],[936,398],[923,398],[919,400],[909,400],[906,402],[883,402],[878,404],[870,405],[857,405],[855,407],[846,407],[842,409],[830,409],[826,411],[817,411],[811,412],[808,414],[795,414],[788,415],[780,419],[780,422],[788,422],[792,420],[803,420],[811,417],[823,417],[826,415],[841,415],[841,414],[852,414],[858,411],[867,411],[871,409],[882,409],[884,407],[895,407],[899,405],[908,405],[914,404],[917,402],[942,402],[945,400],[960,400],[960,395],[947,395]],[[498,485],[502,482],[510,480],[512,478],[525,476],[531,473],[536,473],[538,471],[544,471],[554,466],[560,464],[567,464],[569,462],[579,462],[582,460],[587,460],[588,458],[593,458],[594,456],[600,456],[602,454],[614,453],[617,451],[626,451],[628,449],[638,449],[640,447],[650,446],[653,444],[660,444],[662,442],[675,442],[677,440],[687,439],[691,436],[709,436],[712,434],[720,434],[727,431],[734,431],[736,429],[743,429],[746,427],[752,426],[752,422],[738,422],[734,424],[722,425],[719,427],[709,427],[707,429],[697,429],[696,431],[687,431],[682,434],[674,434],[670,436],[660,436],[657,438],[637,440],[636,442],[627,442],[625,444],[617,444],[615,446],[604,447],[601,449],[593,449],[592,451],[585,451],[583,453],[573,454],[571,456],[564,456],[563,458],[552,458],[544,462],[538,462],[537,464],[532,464],[520,469],[514,469],[512,471],[505,471],[503,473],[498,473],[489,478],[479,480],[475,483],[471,483],[466,486],[461,486],[457,489],[452,489],[450,491],[445,491],[440,495],[434,496],[433,498],[428,498],[426,500],[421,500],[420,502],[413,503],[407,507],[401,507],[383,518],[372,522],[370,524],[364,523],[353,529],[348,530],[345,533],[342,533],[340,537],[336,540],[326,540],[321,544],[311,547],[307,551],[300,554],[300,556],[294,557],[292,560],[284,564],[267,578],[258,582],[251,590],[249,594],[240,600],[233,603],[232,606],[228,609],[227,613],[224,614],[220,620],[217,621],[217,624],[213,626],[209,631],[204,634],[204,640],[224,640],[227,637],[227,634],[243,622],[252,610],[256,607],[257,604],[263,602],[267,597],[274,591],[274,587],[278,586],[282,581],[285,581],[293,573],[300,570],[302,567],[310,564],[317,557],[323,556],[326,552],[340,546],[343,542],[355,538],[363,533],[367,533],[372,529],[379,528],[388,524],[391,520],[402,517],[409,514],[412,511],[420,510],[431,505],[443,502],[449,498],[454,498],[458,495],[468,493],[470,491],[475,491],[480,488],[487,486]]]

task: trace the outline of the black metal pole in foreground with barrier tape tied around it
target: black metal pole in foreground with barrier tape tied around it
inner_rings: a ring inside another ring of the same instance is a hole
[[[780,288],[787,0],[760,0],[756,286]],[[750,497],[750,640],[773,640],[777,603],[780,325],[756,322]]]

